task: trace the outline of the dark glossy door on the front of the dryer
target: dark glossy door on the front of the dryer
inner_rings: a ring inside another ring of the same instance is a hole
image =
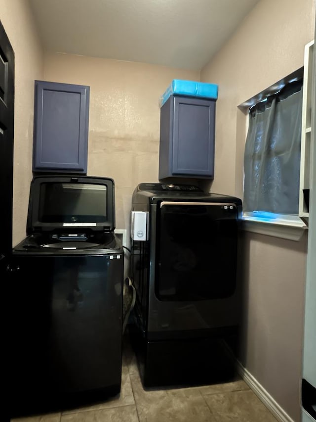
[[[236,261],[235,203],[160,203],[155,277],[159,300],[199,301],[232,296]]]

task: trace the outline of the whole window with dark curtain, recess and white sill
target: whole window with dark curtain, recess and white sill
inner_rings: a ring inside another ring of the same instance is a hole
[[[302,93],[299,69],[295,77],[289,75],[239,106],[243,110],[247,106],[249,116],[244,151],[245,230],[292,238],[282,235],[292,226],[297,232],[293,239],[298,240],[306,228],[298,217]]]

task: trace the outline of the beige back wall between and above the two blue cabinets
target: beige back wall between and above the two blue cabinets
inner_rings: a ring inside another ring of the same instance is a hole
[[[136,185],[158,182],[158,101],[172,79],[199,72],[45,53],[44,80],[90,86],[88,175],[114,179],[118,229],[129,230]]]

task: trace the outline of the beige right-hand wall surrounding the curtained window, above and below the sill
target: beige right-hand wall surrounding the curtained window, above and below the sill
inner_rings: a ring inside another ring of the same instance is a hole
[[[261,0],[201,71],[219,85],[213,191],[242,195],[245,119],[237,106],[303,66],[314,39],[314,0]],[[244,343],[240,359],[277,403],[300,420],[299,382],[306,237],[245,234]]]

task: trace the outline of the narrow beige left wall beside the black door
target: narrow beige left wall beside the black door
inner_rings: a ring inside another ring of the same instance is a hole
[[[0,0],[0,20],[15,54],[13,245],[26,234],[32,180],[34,80],[43,75],[43,50],[25,0]]]

